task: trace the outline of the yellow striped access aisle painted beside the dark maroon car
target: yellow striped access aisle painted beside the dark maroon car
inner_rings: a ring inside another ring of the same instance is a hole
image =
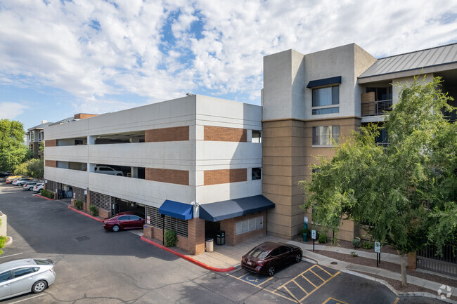
[[[271,293],[288,298],[296,303],[302,303],[304,299],[308,298],[338,274],[340,274],[339,271],[332,274],[319,265],[313,265],[300,275],[297,275],[297,277],[271,291]],[[334,304],[333,302],[330,303]]]

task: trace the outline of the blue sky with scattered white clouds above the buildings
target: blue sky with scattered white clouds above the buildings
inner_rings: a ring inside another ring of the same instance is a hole
[[[27,129],[186,93],[260,105],[265,55],[454,42],[455,0],[0,0],[0,119]]]

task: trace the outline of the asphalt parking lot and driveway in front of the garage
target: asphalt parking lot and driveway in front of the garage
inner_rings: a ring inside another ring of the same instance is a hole
[[[142,242],[141,230],[107,232],[61,201],[1,182],[0,211],[7,214],[13,237],[0,263],[51,258],[57,273],[56,283],[44,293],[2,303],[421,303],[398,299],[376,282],[304,261],[273,277],[240,268],[210,272]]]

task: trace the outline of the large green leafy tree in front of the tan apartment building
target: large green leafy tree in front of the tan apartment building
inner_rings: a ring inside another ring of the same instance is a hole
[[[397,249],[404,286],[406,254],[457,239],[457,124],[442,112],[456,109],[440,82],[399,87],[399,102],[384,116],[387,147],[375,143],[378,126],[361,127],[300,182],[302,209],[314,209],[315,223],[335,235],[342,218],[370,223],[374,240]]]

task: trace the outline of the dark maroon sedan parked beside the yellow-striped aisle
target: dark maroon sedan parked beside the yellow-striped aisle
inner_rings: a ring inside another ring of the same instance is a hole
[[[300,247],[264,242],[255,246],[241,258],[241,267],[250,272],[272,277],[277,270],[288,266],[290,263],[300,263],[302,256],[303,251]]]

